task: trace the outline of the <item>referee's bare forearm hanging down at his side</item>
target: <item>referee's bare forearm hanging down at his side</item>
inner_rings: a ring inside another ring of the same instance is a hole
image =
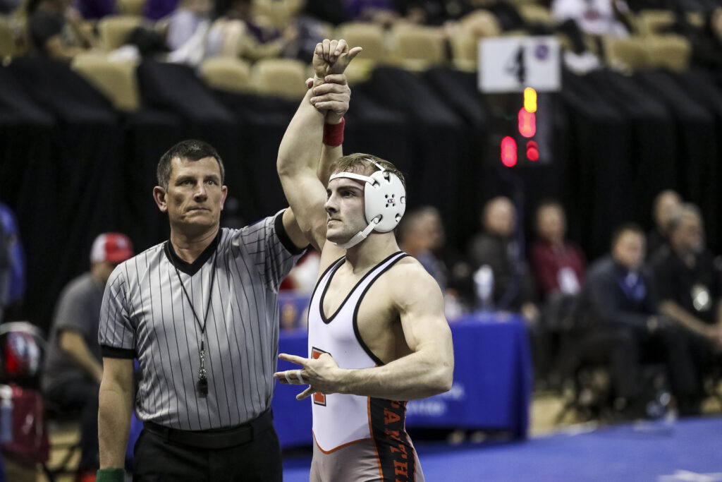
[[[133,409],[132,390],[103,379],[97,413],[100,468],[125,467],[126,446]]]

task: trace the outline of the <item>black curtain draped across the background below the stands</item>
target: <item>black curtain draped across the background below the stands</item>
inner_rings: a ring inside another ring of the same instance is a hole
[[[27,253],[28,289],[15,317],[48,327],[58,293],[87,270],[98,233],[126,232],[136,251],[168,236],[152,188],[157,160],[181,139],[204,139],[224,159],[229,222],[284,207],[275,162],[296,102],[214,92],[184,66],[148,61],[138,77],[143,107],[125,114],[64,64],[0,67],[0,202],[16,212]],[[540,199],[561,199],[571,238],[593,258],[615,225],[648,228],[653,197],[671,188],[700,205],[710,247],[721,251],[720,77],[599,71],[565,72],[563,81],[550,96],[554,158],[514,168],[526,226]],[[463,251],[484,201],[512,194],[490,155],[492,116],[476,74],[383,68],[352,89],[344,151],[396,163],[409,178],[409,209],[438,207],[450,249]]]

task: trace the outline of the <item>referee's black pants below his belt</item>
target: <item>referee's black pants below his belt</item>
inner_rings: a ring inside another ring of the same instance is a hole
[[[205,449],[141,432],[134,447],[134,482],[281,482],[281,446],[272,418],[253,424],[253,439],[234,447]]]

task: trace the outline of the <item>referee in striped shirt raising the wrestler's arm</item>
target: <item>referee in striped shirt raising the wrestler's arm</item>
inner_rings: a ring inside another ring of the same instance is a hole
[[[345,113],[348,88],[332,93],[325,108]],[[221,229],[224,168],[205,142],[173,146],[157,177],[170,240],[118,265],[103,296],[97,480],[123,481],[135,408],[134,481],[281,481],[277,292],[308,241],[290,209]]]

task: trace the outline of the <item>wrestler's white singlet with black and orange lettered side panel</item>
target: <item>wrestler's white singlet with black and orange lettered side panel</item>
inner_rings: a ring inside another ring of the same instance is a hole
[[[406,254],[399,251],[362,277],[336,313],[326,318],[323,298],[345,258],[321,275],[308,311],[308,356],[329,353],[342,369],[383,365],[361,339],[359,306],[373,282]],[[316,393],[311,481],[423,481],[416,450],[406,434],[406,402]]]

